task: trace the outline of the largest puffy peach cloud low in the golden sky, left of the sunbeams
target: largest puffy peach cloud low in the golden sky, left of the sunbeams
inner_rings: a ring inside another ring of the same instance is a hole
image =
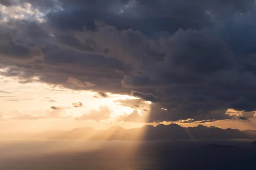
[[[100,106],[99,111],[93,110],[89,114],[84,114],[80,117],[77,117],[76,120],[94,120],[99,122],[101,120],[106,120],[111,117],[111,110],[108,106]]]

